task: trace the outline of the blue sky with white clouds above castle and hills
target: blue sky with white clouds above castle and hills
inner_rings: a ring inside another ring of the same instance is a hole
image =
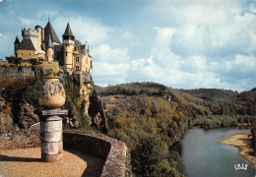
[[[256,87],[256,0],[0,0],[0,59],[48,17],[88,41],[98,86]]]

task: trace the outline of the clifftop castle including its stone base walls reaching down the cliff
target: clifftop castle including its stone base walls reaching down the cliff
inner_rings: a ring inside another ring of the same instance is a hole
[[[22,60],[22,66],[27,66],[30,60],[36,60],[39,61],[38,66],[44,69],[59,71],[60,67],[70,75],[80,76],[81,102],[84,101],[87,113],[89,94],[94,85],[93,61],[88,43],[82,44],[75,38],[69,23],[61,43],[49,20],[44,29],[40,26],[22,29],[22,36],[21,42],[18,36],[14,41],[15,58]]]

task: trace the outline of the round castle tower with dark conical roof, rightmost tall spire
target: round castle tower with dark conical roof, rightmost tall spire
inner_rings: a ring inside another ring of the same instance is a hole
[[[70,72],[74,68],[73,63],[73,50],[75,46],[75,35],[70,29],[69,23],[65,32],[62,35],[63,38],[63,48],[64,48],[64,66],[67,71]]]

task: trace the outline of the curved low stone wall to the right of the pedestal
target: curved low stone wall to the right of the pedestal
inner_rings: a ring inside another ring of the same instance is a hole
[[[108,137],[63,133],[64,148],[73,148],[105,159],[101,176],[125,176],[126,146]]]

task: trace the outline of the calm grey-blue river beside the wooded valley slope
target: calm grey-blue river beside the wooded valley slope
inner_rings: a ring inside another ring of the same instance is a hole
[[[203,130],[198,127],[187,130],[176,144],[184,170],[189,177],[255,177],[256,170],[237,154],[238,148],[221,143],[226,136],[248,133],[244,128]],[[235,170],[235,164],[248,164],[247,170]]]

